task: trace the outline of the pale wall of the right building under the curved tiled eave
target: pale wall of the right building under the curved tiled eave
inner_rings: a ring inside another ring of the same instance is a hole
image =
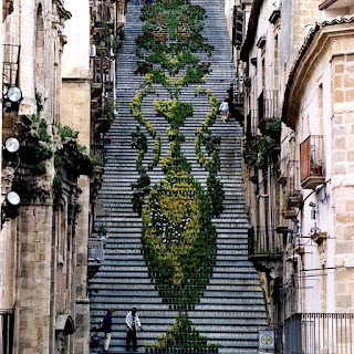
[[[320,200],[317,191],[303,190],[301,311],[310,313],[354,309],[354,55],[343,54],[351,41],[353,37],[345,35],[337,35],[325,45],[315,41],[298,76],[304,84],[298,87],[301,103],[295,139],[300,144],[309,135],[323,135],[325,157],[325,200]],[[316,205],[315,219],[310,218],[310,201]],[[314,227],[326,232],[321,246],[309,238]]]

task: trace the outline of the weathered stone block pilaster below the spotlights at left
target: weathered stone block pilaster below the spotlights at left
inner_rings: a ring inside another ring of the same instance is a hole
[[[15,352],[50,353],[52,206],[21,207],[18,230]]]

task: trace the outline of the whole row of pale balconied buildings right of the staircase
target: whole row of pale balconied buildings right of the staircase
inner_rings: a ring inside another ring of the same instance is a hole
[[[353,15],[346,0],[235,1],[229,21],[249,259],[275,353],[353,350]]]

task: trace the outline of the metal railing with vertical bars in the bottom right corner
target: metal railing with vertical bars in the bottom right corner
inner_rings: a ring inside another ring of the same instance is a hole
[[[284,321],[283,353],[354,353],[353,313],[295,313]]]

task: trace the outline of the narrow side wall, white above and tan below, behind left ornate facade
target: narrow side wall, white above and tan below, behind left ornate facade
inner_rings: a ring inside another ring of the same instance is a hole
[[[61,124],[79,132],[79,143],[91,145],[91,77],[90,77],[90,3],[65,1],[72,19],[65,25],[67,44],[62,56]],[[77,217],[75,273],[73,274],[73,303],[77,331],[72,341],[72,353],[88,353],[90,302],[87,299],[87,240],[90,215],[90,180],[79,179],[82,194],[79,198],[82,212]]]

